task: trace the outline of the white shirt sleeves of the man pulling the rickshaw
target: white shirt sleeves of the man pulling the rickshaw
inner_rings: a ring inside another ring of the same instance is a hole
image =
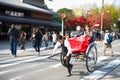
[[[56,49],[57,49],[59,46],[61,46],[61,44],[57,41],[57,43],[56,43],[56,45],[55,45],[55,47],[54,47],[54,49],[53,49],[53,55],[55,54],[55,51],[56,51]],[[71,47],[70,47],[70,43],[69,43],[68,40],[66,40],[66,39],[65,39],[65,41],[64,41],[64,46],[67,47],[67,49],[68,49],[68,52],[67,52],[67,55],[66,55],[66,56],[69,56],[70,54],[72,54]]]

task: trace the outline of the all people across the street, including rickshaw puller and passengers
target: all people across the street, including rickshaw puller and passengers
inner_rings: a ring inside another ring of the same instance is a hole
[[[13,56],[17,56],[17,43],[19,43],[20,49],[21,50],[25,50],[25,43],[26,43],[26,36],[27,34],[24,31],[19,31],[15,28],[15,24],[11,25],[11,28],[8,31],[8,35],[10,38],[10,50],[11,50],[11,54]],[[113,54],[113,49],[112,49],[112,44],[111,42],[108,43],[107,40],[109,39],[108,35],[112,35],[113,39],[118,39],[120,37],[119,34],[116,33],[110,33],[109,30],[106,30],[104,35],[100,34],[99,30],[94,30],[94,29],[90,29],[90,27],[88,25],[85,25],[84,28],[82,28],[81,26],[77,26],[76,27],[76,31],[72,31],[72,32],[65,32],[65,36],[62,36],[61,33],[57,34],[55,31],[52,31],[51,34],[49,34],[48,31],[45,31],[44,33],[41,31],[40,28],[33,28],[32,30],[32,34],[30,37],[31,43],[32,43],[32,47],[35,49],[36,52],[38,52],[38,55],[40,55],[40,47],[43,46],[42,43],[45,44],[45,47],[49,46],[49,42],[51,41],[53,43],[53,52],[52,52],[52,57],[55,54],[56,49],[61,46],[62,47],[62,53],[64,53],[64,62],[65,62],[65,66],[68,69],[68,76],[71,76],[71,71],[72,71],[72,67],[73,65],[70,63],[70,58],[71,58],[71,47],[70,47],[70,43],[68,41],[68,38],[70,37],[77,37],[77,36],[81,36],[81,35],[85,35],[85,36],[90,36],[92,37],[92,42],[93,41],[103,41],[103,55],[105,55],[105,51],[107,48],[110,48],[111,51],[111,56],[114,56]],[[103,37],[103,38],[102,38]]]

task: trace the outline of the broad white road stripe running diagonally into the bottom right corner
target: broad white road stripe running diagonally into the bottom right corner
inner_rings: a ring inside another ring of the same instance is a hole
[[[120,65],[120,58],[117,58],[111,62],[109,62],[106,66],[101,67],[99,70],[94,71],[90,75],[84,77],[81,80],[99,80],[102,78],[105,74],[113,70],[115,67]]]

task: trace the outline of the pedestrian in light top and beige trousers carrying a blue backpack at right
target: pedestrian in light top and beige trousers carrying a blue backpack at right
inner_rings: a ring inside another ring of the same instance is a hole
[[[111,44],[112,42],[108,42],[109,35],[111,35],[109,30],[106,30],[104,35],[104,40],[103,40],[103,54],[105,55],[106,49],[109,48],[111,51],[111,56],[113,57],[114,55],[113,55],[113,49]]]

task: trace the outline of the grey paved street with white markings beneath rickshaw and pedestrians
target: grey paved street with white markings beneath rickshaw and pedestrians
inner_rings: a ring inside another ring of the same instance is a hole
[[[113,41],[114,57],[103,56],[102,42],[96,42],[98,61],[96,70],[90,73],[85,61],[72,59],[72,76],[66,77],[67,69],[60,63],[60,55],[48,59],[52,49],[41,48],[40,56],[26,43],[26,50],[19,50],[17,57],[10,55],[9,42],[0,42],[0,80],[120,80],[120,40]],[[60,49],[56,51],[59,53]]]

